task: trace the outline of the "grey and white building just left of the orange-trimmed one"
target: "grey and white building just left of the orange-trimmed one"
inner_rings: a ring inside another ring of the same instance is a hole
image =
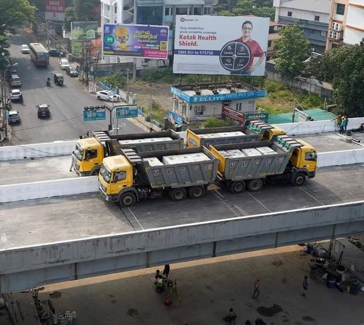
[[[273,6],[276,8],[276,22],[285,25],[298,23],[310,42],[309,50],[325,52],[331,0],[274,0]]]

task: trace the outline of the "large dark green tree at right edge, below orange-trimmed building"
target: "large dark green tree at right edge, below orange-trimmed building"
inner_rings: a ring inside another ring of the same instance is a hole
[[[364,116],[364,43],[333,48],[312,60],[311,74],[333,85],[338,112]]]

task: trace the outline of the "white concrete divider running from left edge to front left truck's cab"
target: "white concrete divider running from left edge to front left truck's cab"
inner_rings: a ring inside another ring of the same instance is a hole
[[[97,192],[96,176],[0,186],[0,203]]]

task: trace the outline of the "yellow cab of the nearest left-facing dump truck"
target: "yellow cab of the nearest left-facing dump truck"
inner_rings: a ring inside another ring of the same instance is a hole
[[[99,173],[99,189],[106,201],[116,202],[124,193],[134,193],[123,198],[126,205],[129,200],[138,199],[138,192],[133,187],[133,166],[124,155],[106,157]],[[134,203],[133,202],[133,203]]]

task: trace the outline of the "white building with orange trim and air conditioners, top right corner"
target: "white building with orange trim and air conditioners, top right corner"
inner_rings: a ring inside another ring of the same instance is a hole
[[[364,40],[364,0],[332,0],[326,50]]]

